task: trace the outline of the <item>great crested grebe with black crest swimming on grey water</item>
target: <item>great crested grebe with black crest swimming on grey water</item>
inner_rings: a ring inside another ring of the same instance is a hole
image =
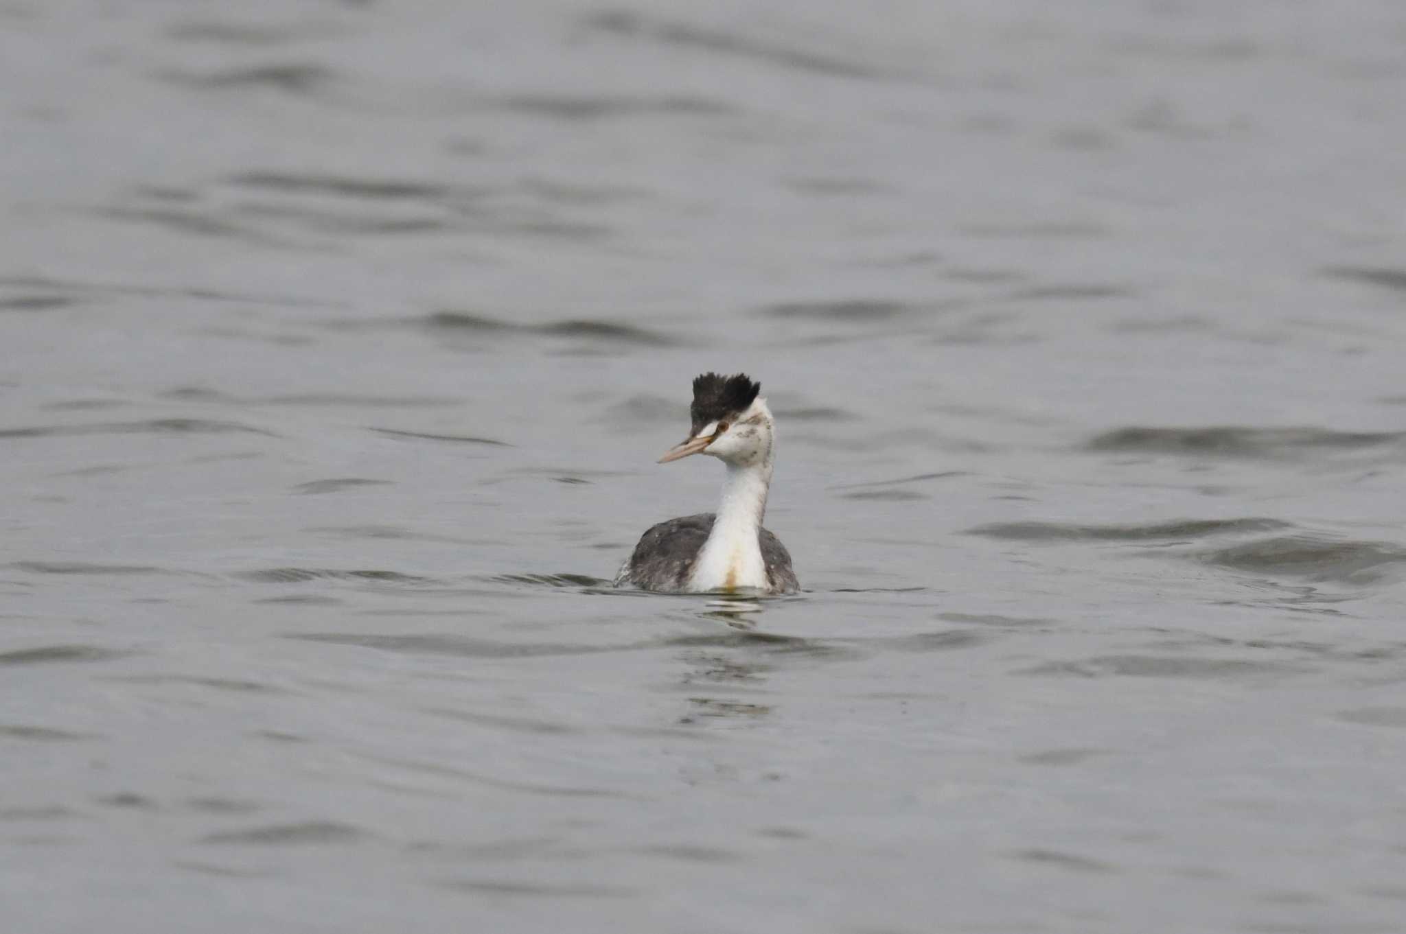
[[[659,463],[709,454],[727,465],[717,513],[681,515],[640,537],[614,586],[665,593],[762,591],[800,588],[790,553],[762,528],[776,449],[775,421],[761,383],[747,374],[703,374],[693,381],[689,437]]]

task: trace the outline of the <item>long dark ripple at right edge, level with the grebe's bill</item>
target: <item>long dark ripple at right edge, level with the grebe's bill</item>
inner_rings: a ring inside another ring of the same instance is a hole
[[[1091,438],[1088,451],[1188,454],[1229,458],[1284,458],[1310,451],[1354,451],[1400,444],[1402,431],[1333,431],[1329,428],[1116,428]]]

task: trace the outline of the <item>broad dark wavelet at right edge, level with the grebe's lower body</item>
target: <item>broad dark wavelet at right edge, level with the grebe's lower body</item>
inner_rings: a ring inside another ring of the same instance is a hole
[[[1313,581],[1371,583],[1406,566],[1406,548],[1388,542],[1281,535],[1202,552],[1195,558],[1230,570]]]

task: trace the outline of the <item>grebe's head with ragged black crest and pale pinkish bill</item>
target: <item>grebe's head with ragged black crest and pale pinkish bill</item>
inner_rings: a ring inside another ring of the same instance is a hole
[[[772,413],[756,393],[762,383],[747,374],[721,376],[703,374],[693,381],[693,427],[689,437],[659,458],[659,463],[690,454],[710,454],[738,466],[751,466],[770,458]]]

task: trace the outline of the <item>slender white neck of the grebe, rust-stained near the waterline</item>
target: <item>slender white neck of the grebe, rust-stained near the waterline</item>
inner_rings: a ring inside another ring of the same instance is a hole
[[[772,485],[772,458],[749,465],[727,465],[723,503],[713,532],[699,552],[689,590],[731,591],[738,587],[766,588],[766,563],[758,534],[766,513],[766,490]]]

